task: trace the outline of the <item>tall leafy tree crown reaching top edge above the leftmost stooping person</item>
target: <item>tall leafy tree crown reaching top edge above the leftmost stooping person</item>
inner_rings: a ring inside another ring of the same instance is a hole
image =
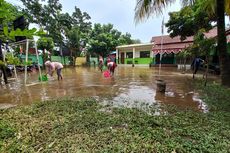
[[[21,0],[25,8],[23,12],[29,22],[38,24],[52,37],[56,44],[63,44],[63,31],[68,21],[68,14],[61,14],[62,5],[59,0]],[[63,21],[64,20],[64,21]]]

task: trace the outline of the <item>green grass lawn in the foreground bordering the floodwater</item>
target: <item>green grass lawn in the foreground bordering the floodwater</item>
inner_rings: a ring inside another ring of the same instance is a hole
[[[230,152],[230,90],[200,88],[210,112],[151,116],[66,98],[0,111],[0,152]]]

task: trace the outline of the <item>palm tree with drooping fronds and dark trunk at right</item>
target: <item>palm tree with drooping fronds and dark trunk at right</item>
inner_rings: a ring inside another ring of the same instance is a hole
[[[135,21],[143,21],[150,15],[160,15],[166,6],[176,0],[137,0]],[[193,4],[197,0],[181,0],[183,5]],[[230,56],[227,54],[225,35],[225,12],[230,15],[230,0],[205,0],[204,8],[217,15],[218,51],[220,56],[221,84],[230,87]]]

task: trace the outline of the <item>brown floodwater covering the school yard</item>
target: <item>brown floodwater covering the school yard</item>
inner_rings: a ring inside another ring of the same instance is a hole
[[[192,88],[191,74],[182,74],[176,68],[122,67],[115,70],[113,77],[105,78],[94,67],[64,68],[63,80],[56,74],[47,82],[38,81],[38,73],[30,73],[27,84],[24,75],[9,84],[0,85],[0,108],[59,97],[94,97],[103,104],[115,107],[159,106],[175,104],[180,108],[192,108],[206,112],[207,106]],[[166,82],[166,92],[156,92],[156,80]]]

